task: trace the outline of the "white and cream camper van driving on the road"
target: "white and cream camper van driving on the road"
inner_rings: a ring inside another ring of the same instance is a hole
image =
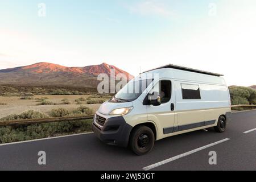
[[[231,115],[222,76],[172,64],[144,72],[100,106],[93,131],[102,142],[130,146],[138,155],[150,152],[155,140],[173,135],[209,127],[222,133]]]

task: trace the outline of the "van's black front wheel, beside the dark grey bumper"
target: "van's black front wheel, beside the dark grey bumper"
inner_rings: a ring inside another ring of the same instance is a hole
[[[155,143],[153,131],[147,126],[136,127],[130,136],[130,148],[137,155],[147,154]]]

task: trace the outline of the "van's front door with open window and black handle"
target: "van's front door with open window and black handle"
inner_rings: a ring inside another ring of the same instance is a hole
[[[148,121],[154,121],[158,127],[158,137],[174,132],[175,122],[175,89],[172,80],[163,79],[155,83],[150,90],[159,93],[161,105],[147,105]]]

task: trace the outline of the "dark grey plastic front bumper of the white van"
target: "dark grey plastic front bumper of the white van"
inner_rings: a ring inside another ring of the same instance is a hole
[[[93,119],[93,132],[104,143],[127,147],[132,126],[125,122],[122,116],[108,118],[103,127],[98,126]]]

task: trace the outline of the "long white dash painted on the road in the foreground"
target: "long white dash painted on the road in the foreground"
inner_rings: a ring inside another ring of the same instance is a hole
[[[222,142],[226,142],[226,141],[228,141],[228,140],[230,140],[230,139],[229,139],[229,138],[225,138],[225,139],[220,140],[220,141],[218,141],[218,142],[210,143],[210,144],[208,144],[208,145],[206,145],[206,146],[203,146],[203,147],[200,147],[200,148],[196,148],[195,150],[191,150],[191,151],[185,152],[184,154],[180,154],[180,155],[174,156],[174,157],[172,157],[172,158],[169,158],[169,159],[166,159],[166,160],[162,160],[161,162],[152,164],[152,165],[150,165],[150,166],[143,167],[142,169],[143,169],[144,171],[148,171],[148,170],[150,170],[150,169],[152,169],[152,168],[156,168],[156,167],[162,166],[163,164],[170,163],[170,162],[172,162],[172,161],[174,161],[174,160],[183,158],[183,157],[185,157],[185,156],[191,155],[191,154],[193,154],[193,153],[195,153],[195,152],[198,152],[198,151],[200,151],[200,150],[204,150],[205,148],[209,148],[209,147],[215,146],[216,144],[220,144],[220,143],[222,143]]]

